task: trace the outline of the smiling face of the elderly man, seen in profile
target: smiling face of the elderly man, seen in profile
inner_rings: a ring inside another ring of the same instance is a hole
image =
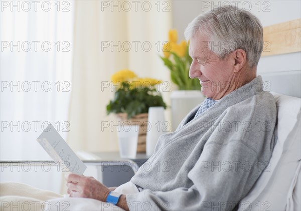
[[[213,45],[210,39],[203,33],[198,32],[190,40],[189,55],[193,62],[190,66],[189,77],[198,78],[202,85],[202,93],[213,100],[224,96],[229,84],[234,83],[233,65],[234,61],[227,56],[224,60],[210,51],[209,45]],[[214,47],[220,49],[214,43]]]

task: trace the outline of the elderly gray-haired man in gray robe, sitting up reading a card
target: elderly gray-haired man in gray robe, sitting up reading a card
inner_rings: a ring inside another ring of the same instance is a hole
[[[132,177],[136,193],[111,192],[91,177],[70,174],[71,196],[112,202],[125,210],[232,210],[267,166],[274,147],[276,106],[262,90],[256,66],[262,26],[252,14],[221,7],[198,16],[185,31],[206,100]],[[145,170],[147,169],[147,170]]]

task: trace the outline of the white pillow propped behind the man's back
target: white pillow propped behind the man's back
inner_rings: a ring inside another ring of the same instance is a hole
[[[270,166],[260,175],[238,210],[286,210],[297,183],[301,160],[301,99],[272,93],[277,106],[277,141]],[[296,199],[300,200],[300,199]],[[294,203],[294,204],[300,204]],[[290,206],[291,207],[291,206]],[[300,210],[301,207],[294,207]]]

